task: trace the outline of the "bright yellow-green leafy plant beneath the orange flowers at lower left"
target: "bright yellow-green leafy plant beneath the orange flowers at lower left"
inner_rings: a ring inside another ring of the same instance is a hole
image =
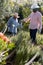
[[[5,41],[3,41],[3,39],[0,38],[0,55],[2,54],[0,57],[0,65],[6,64],[5,60],[7,56],[9,55],[8,52],[12,50],[13,48],[15,48],[14,43],[6,43]],[[5,51],[6,53],[4,53]]]

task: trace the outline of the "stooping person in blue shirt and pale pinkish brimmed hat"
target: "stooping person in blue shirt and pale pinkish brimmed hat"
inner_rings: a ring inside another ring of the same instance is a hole
[[[18,18],[19,18],[18,13],[15,12],[14,16],[8,20],[7,23],[8,31],[12,34],[17,34],[17,27],[19,26]]]

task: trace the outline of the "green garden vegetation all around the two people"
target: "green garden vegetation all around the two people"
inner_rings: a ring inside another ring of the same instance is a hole
[[[37,32],[37,45],[31,43],[29,23],[22,22],[23,27],[18,28],[17,35],[11,37],[5,33],[11,43],[7,44],[0,38],[0,65],[25,65],[37,52],[38,55],[31,65],[43,65],[43,0],[0,0],[0,32],[5,29],[8,19],[14,15],[14,12],[19,13],[19,23],[29,16],[33,3],[40,6],[39,11],[42,13],[42,34]],[[1,54],[4,51],[6,52]],[[14,53],[11,54],[12,52]]]

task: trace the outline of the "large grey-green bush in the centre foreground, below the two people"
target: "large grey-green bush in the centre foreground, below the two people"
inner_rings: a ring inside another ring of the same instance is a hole
[[[38,46],[34,46],[30,42],[29,32],[19,32],[17,36],[12,38],[12,42],[16,44],[15,65],[24,65],[37,51],[40,51]]]

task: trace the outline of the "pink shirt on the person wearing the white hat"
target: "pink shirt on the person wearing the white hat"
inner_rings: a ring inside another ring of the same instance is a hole
[[[40,28],[42,28],[42,14],[40,12],[32,12],[30,14],[30,29],[38,29],[38,24],[40,23]]]

